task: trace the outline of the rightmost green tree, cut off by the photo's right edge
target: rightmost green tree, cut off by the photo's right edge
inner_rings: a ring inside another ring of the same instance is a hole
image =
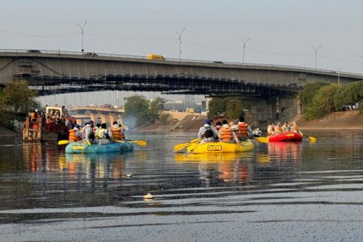
[[[340,89],[335,93],[334,106],[335,110],[342,109],[343,105],[353,105],[356,102],[360,102],[362,105],[363,100],[363,81],[351,82],[341,86]]]

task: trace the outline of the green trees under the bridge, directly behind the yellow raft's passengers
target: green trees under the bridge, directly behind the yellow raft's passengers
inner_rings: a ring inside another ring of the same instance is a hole
[[[244,114],[244,104],[239,97],[213,97],[208,108],[209,118],[223,114],[226,118],[239,118]]]

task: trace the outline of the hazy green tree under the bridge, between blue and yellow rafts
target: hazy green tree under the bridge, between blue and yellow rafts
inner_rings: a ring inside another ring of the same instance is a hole
[[[129,127],[151,124],[158,118],[158,111],[164,108],[164,104],[165,100],[161,97],[149,102],[142,95],[133,95],[124,105],[124,120]]]

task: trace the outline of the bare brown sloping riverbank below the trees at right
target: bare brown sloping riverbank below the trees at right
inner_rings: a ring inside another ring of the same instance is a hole
[[[292,118],[290,122],[296,122],[299,129],[310,130],[331,130],[331,129],[344,129],[354,130],[363,129],[363,114],[360,115],[359,111],[341,111],[327,115],[320,120],[306,121],[303,115],[297,115]]]

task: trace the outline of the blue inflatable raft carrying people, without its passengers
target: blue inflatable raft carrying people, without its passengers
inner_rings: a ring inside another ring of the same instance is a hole
[[[113,142],[106,145],[88,145],[80,141],[70,143],[66,146],[66,153],[114,153],[132,151],[133,143],[131,142]]]

